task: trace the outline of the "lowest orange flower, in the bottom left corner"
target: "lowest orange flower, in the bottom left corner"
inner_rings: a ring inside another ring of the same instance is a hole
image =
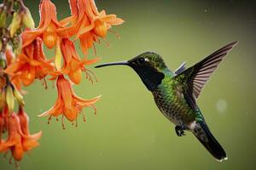
[[[22,123],[23,124],[20,123],[19,116],[15,113],[11,114],[7,121],[9,138],[0,144],[0,152],[11,150],[15,161],[20,161],[26,151],[32,150],[32,148],[38,146],[37,140],[41,137],[41,133],[34,135],[30,135],[29,133],[27,135],[24,134],[20,130],[20,127],[24,126],[24,120]]]

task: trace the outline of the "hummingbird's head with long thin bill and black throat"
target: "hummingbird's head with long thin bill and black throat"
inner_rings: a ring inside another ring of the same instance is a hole
[[[153,52],[145,52],[126,61],[97,65],[96,68],[110,65],[130,66],[137,72],[137,75],[142,79],[143,83],[150,91],[154,91],[154,89],[160,85],[165,77],[164,70],[167,68],[161,56]]]

